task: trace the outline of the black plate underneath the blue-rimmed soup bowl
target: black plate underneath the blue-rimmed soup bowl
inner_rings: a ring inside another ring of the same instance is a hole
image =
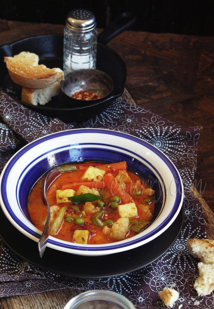
[[[138,248],[106,256],[78,256],[46,248],[39,257],[37,242],[19,232],[0,207],[0,236],[23,260],[54,273],[79,278],[112,277],[141,269],[162,256],[177,239],[183,222],[181,209],[173,224],[159,237]],[[63,263],[62,263],[63,261]],[[98,265],[102,265],[98,267]]]

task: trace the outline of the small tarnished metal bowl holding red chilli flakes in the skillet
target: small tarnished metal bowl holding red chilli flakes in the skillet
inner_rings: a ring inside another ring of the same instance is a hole
[[[100,70],[81,69],[74,70],[65,75],[60,83],[64,99],[72,106],[89,105],[92,102],[103,100],[111,95],[114,83],[111,77]],[[93,92],[99,96],[99,99],[79,100],[72,98],[72,95],[78,91]]]

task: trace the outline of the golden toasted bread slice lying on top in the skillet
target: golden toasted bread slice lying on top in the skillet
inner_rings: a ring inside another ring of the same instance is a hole
[[[20,86],[41,89],[63,80],[61,69],[49,69],[43,64],[39,65],[38,61],[38,55],[25,51],[14,57],[4,57],[11,79]]]

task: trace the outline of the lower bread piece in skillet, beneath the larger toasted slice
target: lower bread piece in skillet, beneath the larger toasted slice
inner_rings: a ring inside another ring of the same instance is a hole
[[[33,89],[22,87],[22,102],[32,104],[32,105],[45,105],[48,103],[54,96],[59,95],[60,91],[60,82],[55,82],[46,88]]]

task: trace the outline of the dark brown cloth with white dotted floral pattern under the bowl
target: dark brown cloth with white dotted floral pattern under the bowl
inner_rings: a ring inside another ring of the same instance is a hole
[[[116,100],[101,115],[82,123],[64,124],[15,102],[0,92],[0,169],[26,143],[66,129],[105,128],[129,133],[162,150],[176,165],[184,183],[184,224],[172,247],[141,270],[108,278],[74,278],[38,269],[21,260],[0,240],[0,296],[32,294],[72,287],[106,289],[123,294],[137,307],[163,308],[158,292],[165,286],[179,291],[175,308],[212,307],[212,295],[199,297],[193,288],[198,276],[197,260],[188,253],[189,238],[204,238],[202,207],[190,195],[197,166],[198,127],[181,127],[133,104]]]

